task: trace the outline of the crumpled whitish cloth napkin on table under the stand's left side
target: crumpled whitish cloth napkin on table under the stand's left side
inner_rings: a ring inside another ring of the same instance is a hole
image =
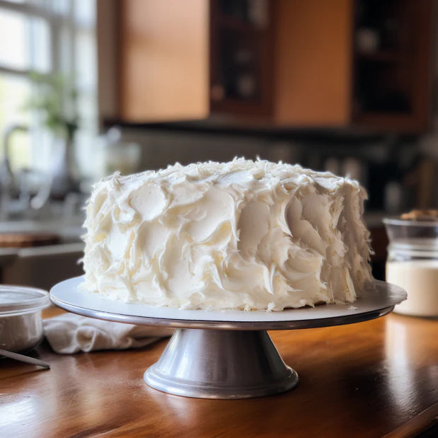
[[[52,349],[64,355],[144,347],[173,333],[173,328],[112,323],[73,313],[44,319],[42,325]]]

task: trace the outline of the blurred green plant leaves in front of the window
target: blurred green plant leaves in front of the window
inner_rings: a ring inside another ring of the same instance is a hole
[[[35,90],[25,109],[35,111],[42,125],[55,136],[71,141],[79,123],[75,105],[77,92],[71,82],[62,74],[37,71],[30,71],[29,79]]]

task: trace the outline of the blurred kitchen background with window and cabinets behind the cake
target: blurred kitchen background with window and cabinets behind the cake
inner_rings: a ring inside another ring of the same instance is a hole
[[[0,281],[81,274],[93,183],[246,156],[437,207],[432,0],[0,0]]]

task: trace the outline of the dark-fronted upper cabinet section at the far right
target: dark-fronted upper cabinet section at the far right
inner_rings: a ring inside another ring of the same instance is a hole
[[[352,122],[425,129],[431,100],[431,1],[357,1],[353,23]]]

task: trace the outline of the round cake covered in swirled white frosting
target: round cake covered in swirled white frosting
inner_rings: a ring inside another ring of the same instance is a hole
[[[115,173],[86,207],[84,287],[180,309],[355,301],[371,279],[365,197],[356,181],[269,161]]]

